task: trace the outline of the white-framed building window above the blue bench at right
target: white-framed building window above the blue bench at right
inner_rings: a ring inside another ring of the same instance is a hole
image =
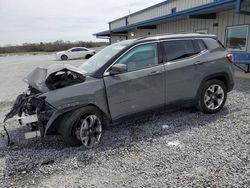
[[[246,51],[248,25],[228,27],[226,32],[226,48],[231,51]]]

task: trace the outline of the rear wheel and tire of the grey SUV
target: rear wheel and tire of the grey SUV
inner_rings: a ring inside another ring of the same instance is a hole
[[[207,81],[200,93],[197,101],[197,108],[207,114],[219,112],[225,105],[227,99],[227,89],[220,80]]]

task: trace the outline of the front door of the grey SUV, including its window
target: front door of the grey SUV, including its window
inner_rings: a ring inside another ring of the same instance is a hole
[[[112,119],[165,105],[164,65],[159,63],[158,43],[133,47],[115,64],[128,71],[104,77]]]

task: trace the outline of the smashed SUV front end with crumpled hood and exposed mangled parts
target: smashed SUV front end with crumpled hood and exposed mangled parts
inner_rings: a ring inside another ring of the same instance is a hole
[[[9,134],[5,127],[8,119],[17,116],[20,125],[27,125],[31,131],[25,135],[27,138],[44,137],[47,133],[48,121],[56,109],[46,102],[46,97],[42,94],[84,81],[84,73],[70,65],[55,64],[47,69],[38,67],[32,71],[24,78],[24,82],[29,85],[27,92],[16,98],[12,109],[4,119],[4,130],[8,137],[8,143],[10,143]]]

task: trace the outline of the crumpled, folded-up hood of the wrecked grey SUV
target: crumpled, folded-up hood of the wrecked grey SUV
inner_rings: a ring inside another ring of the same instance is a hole
[[[85,72],[68,64],[53,64],[48,68],[37,67],[23,81],[45,93],[85,81]]]

